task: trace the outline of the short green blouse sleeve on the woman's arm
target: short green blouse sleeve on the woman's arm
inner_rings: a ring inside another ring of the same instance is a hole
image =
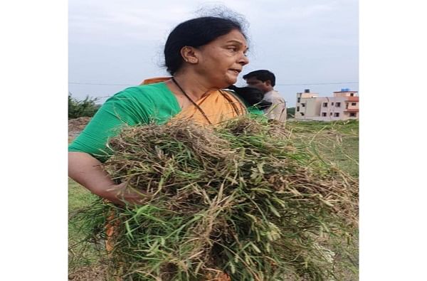
[[[128,88],[110,97],[70,144],[70,152],[86,152],[104,162],[111,154],[107,141],[125,125],[147,124],[152,116],[152,99],[138,88]]]

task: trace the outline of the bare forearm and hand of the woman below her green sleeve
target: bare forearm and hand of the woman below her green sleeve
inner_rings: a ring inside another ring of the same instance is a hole
[[[92,193],[113,203],[138,203],[142,196],[125,189],[126,183],[115,184],[101,162],[85,152],[68,152],[68,176]]]

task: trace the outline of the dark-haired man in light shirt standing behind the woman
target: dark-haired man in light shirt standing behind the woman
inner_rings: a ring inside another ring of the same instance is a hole
[[[255,70],[246,75],[243,79],[250,87],[255,87],[264,94],[264,99],[272,105],[264,110],[268,119],[286,121],[286,102],[279,92],[274,90],[275,75],[268,70]]]

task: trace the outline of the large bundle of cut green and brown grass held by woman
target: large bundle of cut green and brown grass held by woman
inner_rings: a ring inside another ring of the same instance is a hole
[[[105,169],[144,203],[99,201],[85,218],[105,238],[115,214],[110,254],[123,279],[339,278],[334,255],[357,228],[357,181],[282,124],[175,120],[126,128],[110,147]]]

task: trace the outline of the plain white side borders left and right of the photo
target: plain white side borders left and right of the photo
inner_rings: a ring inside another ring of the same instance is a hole
[[[1,3],[0,280],[67,280],[68,6]],[[425,278],[419,3],[360,2],[360,280]]]

